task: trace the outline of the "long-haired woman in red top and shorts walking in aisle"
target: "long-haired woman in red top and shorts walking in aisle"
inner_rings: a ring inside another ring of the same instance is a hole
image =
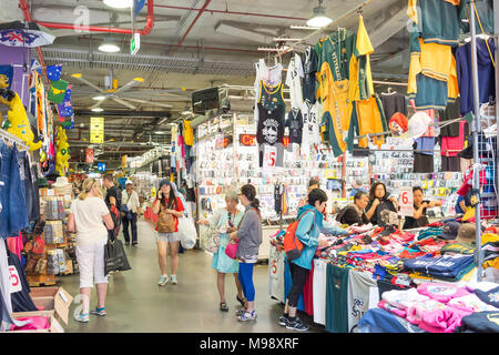
[[[157,260],[161,270],[161,277],[157,284],[164,286],[169,282],[166,273],[166,254],[170,250],[170,267],[172,272],[172,285],[177,284],[176,270],[179,267],[179,219],[182,217],[184,205],[182,200],[175,196],[175,192],[167,180],[160,181],[160,189],[157,191],[156,200],[153,204],[153,213],[167,213],[173,215],[175,221],[174,231],[171,233],[162,233],[156,225],[156,245],[157,245]]]

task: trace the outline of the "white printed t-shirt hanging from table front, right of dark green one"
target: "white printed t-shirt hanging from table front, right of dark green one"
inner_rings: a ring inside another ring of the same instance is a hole
[[[354,328],[369,310],[371,290],[377,291],[376,280],[371,273],[350,271],[348,274],[348,332]]]

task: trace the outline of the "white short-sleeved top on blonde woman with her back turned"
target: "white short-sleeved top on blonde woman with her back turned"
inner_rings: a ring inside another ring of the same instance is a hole
[[[109,210],[104,200],[100,197],[77,199],[71,203],[70,213],[74,215],[78,244],[106,243],[108,229],[104,225],[103,216],[109,214]]]

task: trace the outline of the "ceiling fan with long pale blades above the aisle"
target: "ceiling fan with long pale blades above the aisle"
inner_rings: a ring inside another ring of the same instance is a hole
[[[121,88],[118,88],[118,80],[113,80],[112,79],[112,72],[111,72],[111,77],[110,77],[110,82],[112,82],[112,88],[108,89],[108,90],[103,90],[101,88],[99,88],[98,85],[95,85],[94,83],[91,83],[90,81],[88,81],[86,79],[83,78],[83,75],[81,73],[74,73],[71,75],[72,78],[81,81],[82,83],[91,87],[92,89],[95,89],[99,93],[101,93],[101,100],[99,100],[98,103],[95,103],[94,105],[92,105],[90,109],[100,109],[100,106],[108,100],[113,100],[118,103],[121,103],[122,105],[131,109],[131,110],[138,110],[136,105],[130,103],[129,101],[132,102],[138,102],[138,103],[145,103],[145,104],[150,104],[150,105],[155,105],[155,106],[161,106],[161,108],[166,108],[166,109],[172,109],[173,105],[167,104],[167,103],[161,103],[161,102],[154,102],[154,101],[146,101],[146,100],[141,100],[141,99],[132,99],[132,98],[120,98],[120,93],[123,93],[126,90],[132,89],[133,87],[144,82],[144,79],[142,78],[133,78],[130,82],[128,82],[126,84],[124,84]],[[109,77],[106,77],[109,78]]]

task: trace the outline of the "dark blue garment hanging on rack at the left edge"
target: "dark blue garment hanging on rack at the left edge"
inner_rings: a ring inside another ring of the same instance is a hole
[[[0,142],[0,237],[17,235],[29,225],[24,184],[18,163],[18,150]]]

